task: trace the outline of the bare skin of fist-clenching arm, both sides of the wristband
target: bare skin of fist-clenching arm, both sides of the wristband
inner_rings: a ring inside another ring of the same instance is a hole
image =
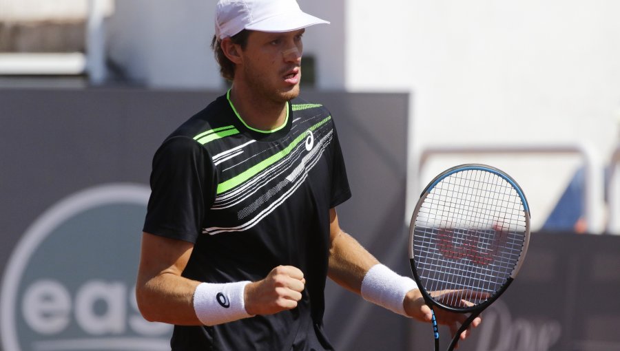
[[[200,326],[194,310],[194,291],[200,281],[181,277],[194,244],[143,233],[136,298],[148,321]],[[245,310],[271,315],[296,308],[306,280],[298,268],[278,266],[265,279],[245,287]]]

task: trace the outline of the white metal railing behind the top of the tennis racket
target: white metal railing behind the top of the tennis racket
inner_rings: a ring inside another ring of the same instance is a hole
[[[447,146],[428,147],[420,154],[417,167],[417,180],[414,189],[420,189],[419,179],[428,158],[438,155],[462,154],[536,154],[536,155],[574,155],[579,156],[586,170],[583,189],[583,209],[588,233],[603,233],[603,171],[595,152],[586,145],[485,145],[485,146]],[[618,156],[620,158],[620,156]]]

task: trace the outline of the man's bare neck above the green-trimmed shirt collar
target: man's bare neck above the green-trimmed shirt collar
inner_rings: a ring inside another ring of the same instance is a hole
[[[279,129],[287,120],[287,102],[278,102],[252,94],[234,84],[229,98],[242,121],[252,129],[272,131]]]

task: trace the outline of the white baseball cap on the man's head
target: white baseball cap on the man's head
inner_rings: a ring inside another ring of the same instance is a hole
[[[219,0],[216,36],[224,39],[244,29],[259,32],[290,32],[326,23],[303,12],[296,0]]]

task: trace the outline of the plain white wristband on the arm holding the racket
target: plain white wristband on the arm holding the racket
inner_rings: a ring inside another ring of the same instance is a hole
[[[415,281],[397,275],[382,264],[372,266],[362,280],[362,297],[388,310],[409,317],[404,311],[404,297],[410,290],[417,289]]]

